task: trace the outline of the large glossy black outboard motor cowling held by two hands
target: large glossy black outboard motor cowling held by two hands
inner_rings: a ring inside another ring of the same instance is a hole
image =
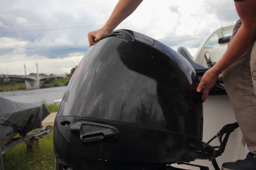
[[[202,140],[198,78],[180,54],[117,30],[74,72],[54,123],[57,169],[158,169],[189,162]]]

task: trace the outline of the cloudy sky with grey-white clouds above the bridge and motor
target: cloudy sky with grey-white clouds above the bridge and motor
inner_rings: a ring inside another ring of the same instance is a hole
[[[89,48],[87,33],[105,24],[118,0],[1,0],[0,74],[63,74]],[[144,0],[116,29],[148,35],[193,55],[221,26],[234,25],[233,0]]]

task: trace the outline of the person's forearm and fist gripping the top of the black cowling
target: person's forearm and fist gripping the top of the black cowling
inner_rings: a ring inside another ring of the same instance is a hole
[[[143,0],[119,0],[106,24],[88,33],[90,47],[100,41],[102,37],[111,33],[125,18],[132,14]]]

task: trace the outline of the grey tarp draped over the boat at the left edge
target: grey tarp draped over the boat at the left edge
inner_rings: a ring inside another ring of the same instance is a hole
[[[40,128],[42,121],[49,114],[43,103],[20,103],[0,97],[0,125],[18,129],[21,136]]]

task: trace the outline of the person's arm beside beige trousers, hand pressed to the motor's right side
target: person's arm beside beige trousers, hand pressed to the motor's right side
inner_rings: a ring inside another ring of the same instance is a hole
[[[256,1],[244,0],[235,2],[235,6],[242,20],[242,25],[224,55],[210,70],[204,73],[197,86],[197,92],[203,90],[203,101],[206,100],[209,91],[215,85],[219,74],[243,55],[256,40]]]

